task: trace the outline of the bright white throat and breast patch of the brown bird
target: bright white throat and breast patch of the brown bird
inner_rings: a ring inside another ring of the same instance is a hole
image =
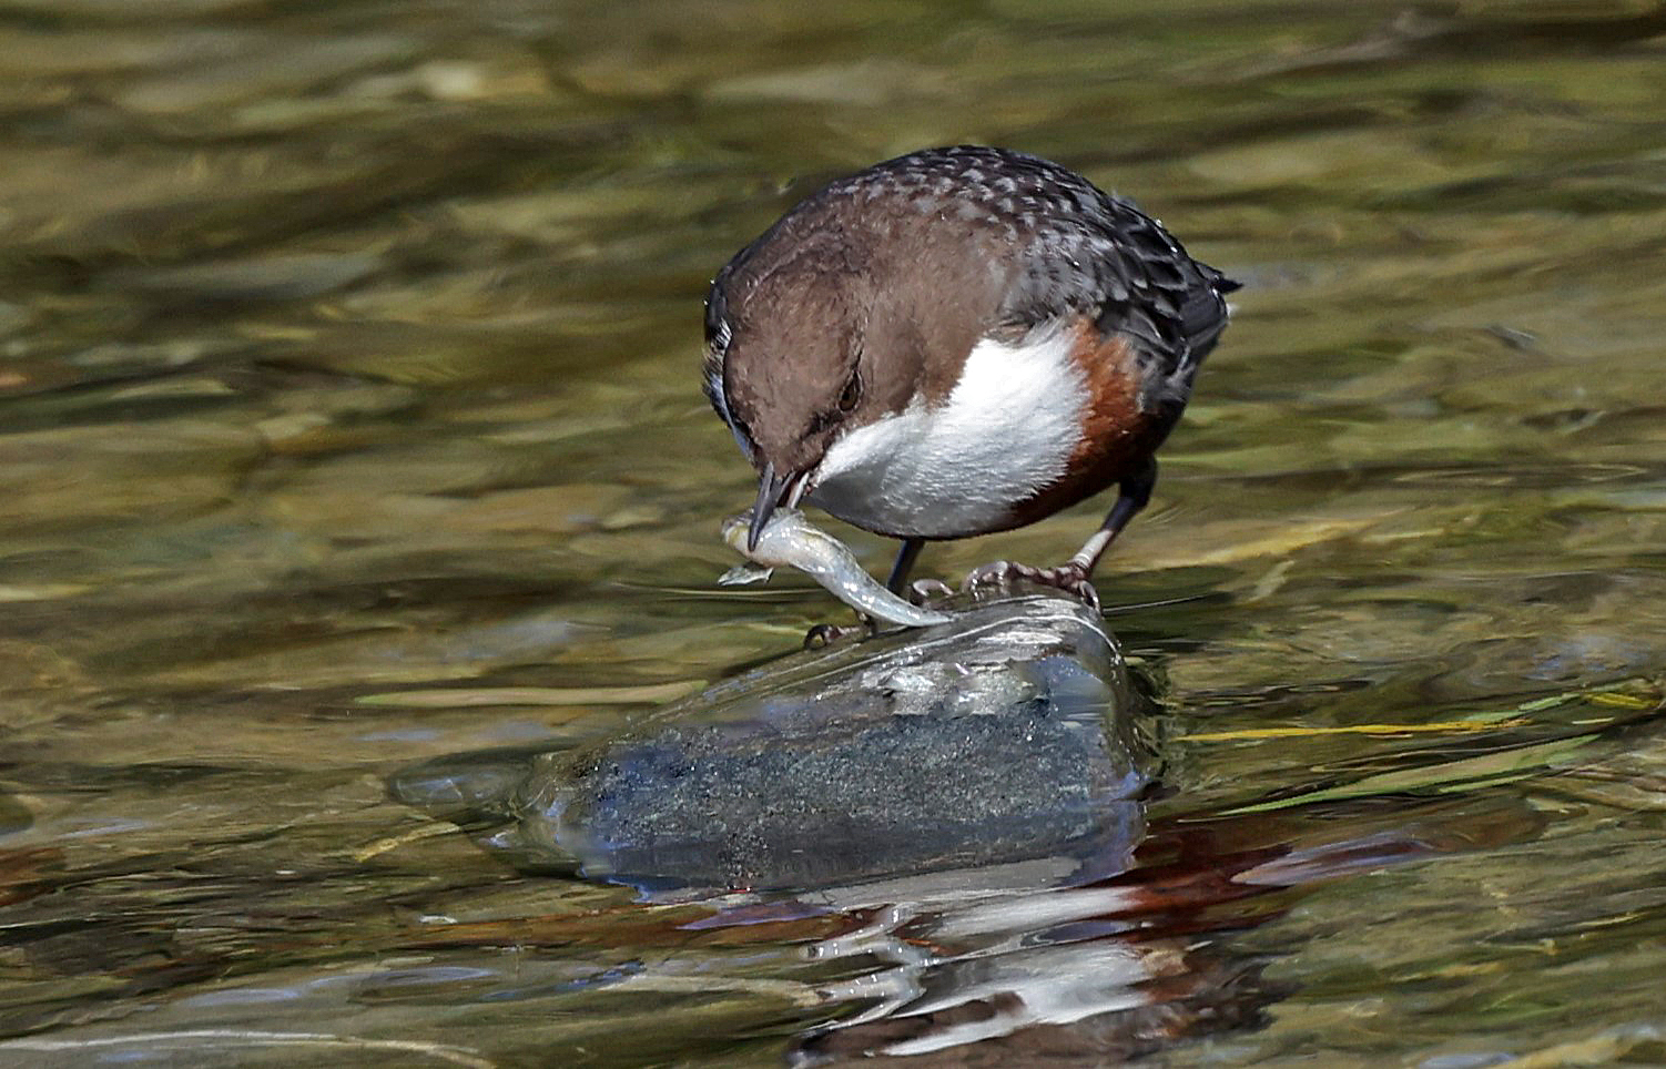
[[[1065,475],[1081,438],[1088,381],[1071,348],[1058,328],[1018,345],[985,338],[941,405],[915,398],[835,441],[810,503],[881,534],[958,538],[1001,526]]]

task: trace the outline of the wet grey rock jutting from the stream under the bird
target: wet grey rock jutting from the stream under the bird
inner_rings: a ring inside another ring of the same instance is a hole
[[[428,764],[395,789],[485,803],[506,821],[488,841],[523,864],[645,891],[971,869],[990,888],[1001,866],[1056,886],[1121,871],[1143,833],[1140,701],[1096,613],[1026,593],[773,661],[518,774]]]

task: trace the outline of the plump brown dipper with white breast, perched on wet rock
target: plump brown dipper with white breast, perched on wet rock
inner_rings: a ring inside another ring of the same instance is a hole
[[[751,544],[800,500],[900,538],[1025,526],[1116,486],[1068,563],[1000,561],[1098,604],[1238,288],[1133,201],[1020,152],[915,152],[781,216],[706,296],[705,391],[758,470]]]

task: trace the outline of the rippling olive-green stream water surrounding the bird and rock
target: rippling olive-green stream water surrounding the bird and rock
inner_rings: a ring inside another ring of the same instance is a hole
[[[0,1062],[1666,1064],[1658,5],[8,0],[0,115]],[[1135,868],[640,901],[402,801],[841,614],[715,584],[700,300],[955,142],[1245,281],[1100,578]]]

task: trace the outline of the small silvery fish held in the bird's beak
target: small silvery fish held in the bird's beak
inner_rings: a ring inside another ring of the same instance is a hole
[[[760,583],[768,579],[775,568],[790,564],[833,591],[835,598],[858,613],[868,613],[905,628],[930,628],[953,619],[946,613],[908,604],[885,589],[863,571],[845,543],[811,525],[798,510],[775,510],[758,538],[758,548],[751,553],[746,551],[746,528],[750,526],[751,510],[723,521],[723,541],[738,549],[750,563],[728,569],[718,583]]]

